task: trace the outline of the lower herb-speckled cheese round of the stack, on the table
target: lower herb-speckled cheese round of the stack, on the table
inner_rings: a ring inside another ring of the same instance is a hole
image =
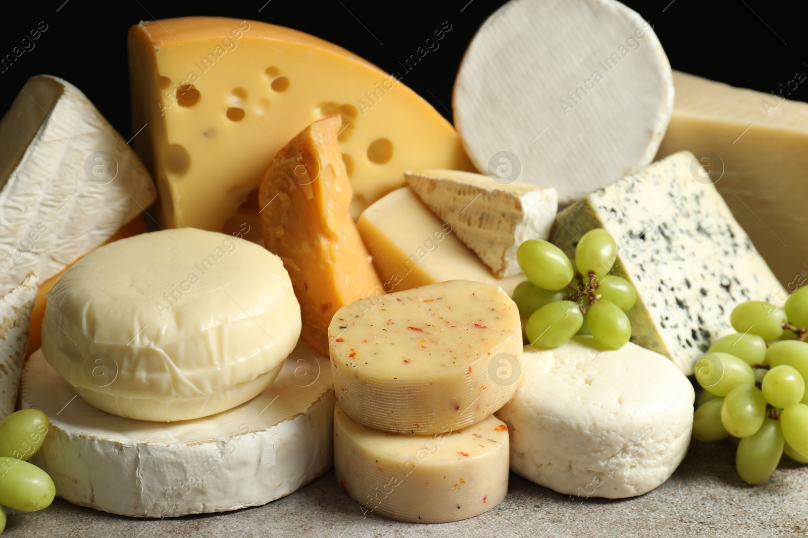
[[[408,523],[467,519],[507,494],[507,427],[490,416],[457,432],[403,436],[362,427],[337,406],[334,468],[365,515]]]

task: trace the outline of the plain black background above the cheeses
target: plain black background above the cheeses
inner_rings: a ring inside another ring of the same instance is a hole
[[[541,2],[541,0],[534,0]],[[128,112],[126,31],[140,20],[221,15],[263,20],[306,31],[364,56],[385,71],[405,60],[444,21],[452,30],[403,81],[449,117],[452,82],[465,47],[503,0],[357,2],[255,0],[57,0],[3,2],[0,58],[28,32],[47,24],[35,47],[0,73],[0,111],[6,111],[27,77],[48,73],[78,85],[124,137]],[[654,25],[674,69],[764,92],[778,91],[794,74],[808,74],[802,3],[772,0],[627,0]],[[28,45],[30,48],[30,45]],[[0,69],[2,71],[2,69]],[[327,81],[323,81],[327,84]],[[808,101],[808,81],[789,98]]]

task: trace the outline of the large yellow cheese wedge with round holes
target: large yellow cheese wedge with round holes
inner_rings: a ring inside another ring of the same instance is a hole
[[[402,186],[412,167],[472,169],[457,132],[423,98],[312,35],[187,17],[138,24],[128,50],[133,128],[145,125],[135,144],[158,182],[166,226],[222,231],[257,220],[249,194],[272,157],[334,114],[354,216]]]

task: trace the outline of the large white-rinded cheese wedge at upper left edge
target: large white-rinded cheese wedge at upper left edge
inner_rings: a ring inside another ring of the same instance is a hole
[[[0,120],[0,294],[45,281],[154,202],[151,177],[78,88],[28,79]]]

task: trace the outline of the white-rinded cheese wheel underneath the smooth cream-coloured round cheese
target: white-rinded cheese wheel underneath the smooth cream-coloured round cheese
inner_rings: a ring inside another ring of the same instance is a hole
[[[238,510],[305,486],[333,465],[334,397],[327,358],[298,344],[275,382],[204,419],[123,419],[76,398],[35,352],[21,404],[41,409],[48,437],[32,458],[70,503],[163,518]]]

